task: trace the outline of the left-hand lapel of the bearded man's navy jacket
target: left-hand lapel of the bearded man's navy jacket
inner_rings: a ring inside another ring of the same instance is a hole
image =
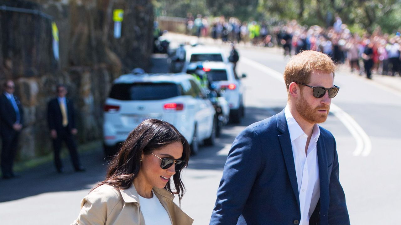
[[[277,119],[277,130],[282,133],[278,135],[280,141],[281,150],[283,151],[284,161],[286,163],[288,177],[290,177],[290,183],[292,190],[294,191],[295,198],[297,199],[298,208],[300,208],[300,197],[298,193],[298,182],[297,175],[295,172],[294,155],[292,154],[292,146],[290,139],[290,132],[288,131],[288,125],[284,110],[276,115]]]

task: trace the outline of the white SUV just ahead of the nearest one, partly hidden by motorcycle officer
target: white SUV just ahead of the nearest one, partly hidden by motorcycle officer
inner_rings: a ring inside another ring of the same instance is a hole
[[[234,72],[232,63],[224,62],[203,62],[203,70],[212,80],[217,89],[223,89],[223,96],[230,106],[230,120],[239,123],[244,116],[244,92],[245,88],[241,79]],[[242,74],[241,78],[246,75]]]

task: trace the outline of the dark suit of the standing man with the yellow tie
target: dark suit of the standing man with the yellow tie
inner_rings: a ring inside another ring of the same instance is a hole
[[[57,131],[57,138],[53,139],[53,148],[55,166],[59,172],[63,170],[63,165],[60,159],[61,144],[63,141],[69,150],[74,169],[78,170],[81,167],[77,152],[77,144],[75,143],[74,135],[71,133],[71,130],[76,128],[75,109],[71,100],[66,98],[65,102],[67,105],[68,118],[68,124],[66,127],[63,126],[63,115],[61,113],[59,100],[57,98],[53,98],[49,101],[49,105],[47,107],[47,122],[49,124],[49,129]]]

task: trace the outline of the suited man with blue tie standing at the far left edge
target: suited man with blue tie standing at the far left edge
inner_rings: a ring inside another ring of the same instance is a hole
[[[12,80],[4,82],[4,92],[0,96],[0,135],[2,138],[1,170],[4,179],[16,177],[12,171],[18,147],[18,137],[22,129],[23,110],[20,101],[14,96],[15,84]]]

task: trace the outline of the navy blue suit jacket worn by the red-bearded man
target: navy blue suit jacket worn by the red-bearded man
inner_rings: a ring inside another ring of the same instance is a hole
[[[338,179],[336,142],[320,127],[317,142],[320,199],[310,224],[348,225]],[[210,224],[294,225],[300,221],[294,157],[284,110],[247,127],[224,167]]]

